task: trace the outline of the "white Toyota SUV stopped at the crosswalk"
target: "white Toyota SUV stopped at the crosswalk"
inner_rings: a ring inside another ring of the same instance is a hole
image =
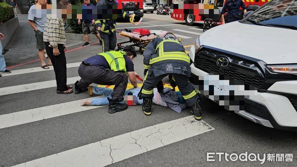
[[[297,130],[297,0],[271,0],[191,47],[190,81],[255,123]]]

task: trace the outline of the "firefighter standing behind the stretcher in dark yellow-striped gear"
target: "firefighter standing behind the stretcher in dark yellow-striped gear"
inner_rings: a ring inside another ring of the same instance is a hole
[[[115,0],[100,0],[97,3],[97,8],[98,10],[100,9],[112,9],[117,8],[117,2]],[[120,17],[124,19],[129,19],[133,16],[133,19],[130,19],[130,22],[133,23],[134,21],[134,14],[128,14],[127,12],[122,12],[120,14]],[[141,18],[136,16],[135,20],[140,20]],[[116,47],[116,22],[115,19],[99,19],[95,21],[96,28],[100,33],[100,37],[102,39],[102,50],[103,52],[105,51],[110,51],[114,50]]]

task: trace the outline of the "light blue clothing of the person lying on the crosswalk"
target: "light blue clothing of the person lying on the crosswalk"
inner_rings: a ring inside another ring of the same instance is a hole
[[[94,86],[93,87],[93,93],[95,94],[100,94],[100,95],[104,95],[107,96],[109,98],[111,98],[111,94],[113,92],[113,89],[110,88],[106,88],[106,87],[97,87]],[[128,93],[132,93],[133,95],[137,96],[138,93],[140,92],[140,87],[136,87],[136,88],[132,88],[132,89],[128,89],[125,91],[124,96],[128,95]],[[91,105],[96,105],[96,106],[103,106],[103,105],[108,105],[108,99],[107,97],[99,97],[99,98],[93,98],[91,100]],[[121,104],[124,104],[124,101],[120,102]],[[143,100],[138,99],[137,98],[137,102],[139,105],[141,105],[143,103]]]

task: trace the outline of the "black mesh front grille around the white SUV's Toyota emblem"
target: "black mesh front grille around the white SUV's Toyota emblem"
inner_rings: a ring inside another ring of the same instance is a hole
[[[219,57],[229,57],[232,61],[230,61],[227,67],[220,67],[217,65]],[[201,48],[196,53],[194,61],[195,67],[207,73],[229,76],[254,87],[251,88],[249,86],[249,89],[259,88],[264,82],[264,77],[255,64],[256,62],[246,61],[242,58],[208,48]]]

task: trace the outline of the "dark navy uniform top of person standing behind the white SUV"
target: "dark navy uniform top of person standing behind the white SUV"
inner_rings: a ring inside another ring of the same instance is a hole
[[[228,9],[228,16],[238,16],[240,7],[242,7],[243,10],[246,9],[246,5],[243,0],[227,0],[222,9],[222,14],[224,14],[226,9]]]

